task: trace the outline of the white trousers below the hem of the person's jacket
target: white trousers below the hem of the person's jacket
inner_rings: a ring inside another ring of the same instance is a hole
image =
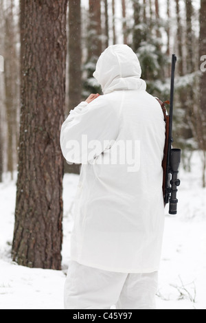
[[[125,274],[70,261],[65,309],[156,309],[158,271]]]

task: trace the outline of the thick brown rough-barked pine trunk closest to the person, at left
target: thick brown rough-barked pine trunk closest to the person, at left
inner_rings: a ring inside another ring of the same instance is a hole
[[[13,260],[61,269],[67,0],[27,0]],[[23,27],[23,26],[21,26]]]

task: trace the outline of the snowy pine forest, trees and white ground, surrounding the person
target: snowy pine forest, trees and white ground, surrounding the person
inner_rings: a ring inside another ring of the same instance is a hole
[[[182,183],[177,216],[165,210],[157,304],[206,309],[206,0],[0,0],[0,309],[63,306],[80,166],[63,159],[60,126],[101,94],[93,72],[115,44],[163,101],[177,56]]]

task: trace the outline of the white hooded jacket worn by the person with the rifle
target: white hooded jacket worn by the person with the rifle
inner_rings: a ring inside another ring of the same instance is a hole
[[[93,75],[104,96],[80,103],[60,135],[67,161],[82,163],[71,260],[106,271],[157,271],[164,224],[163,113],[127,45],[108,47]]]

